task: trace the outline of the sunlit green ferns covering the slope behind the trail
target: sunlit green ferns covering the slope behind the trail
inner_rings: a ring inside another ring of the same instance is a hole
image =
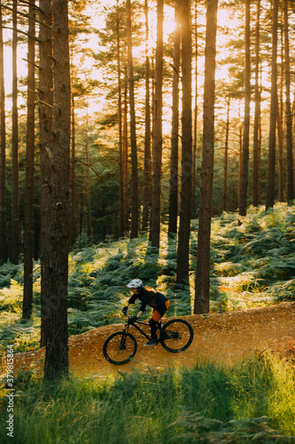
[[[238,224],[238,220],[242,222]],[[130,296],[126,284],[140,278],[171,301],[167,315],[192,313],[198,219],[191,223],[190,286],[177,288],[176,239],[162,226],[160,250],[149,247],[147,234],[137,239],[89,245],[78,239],[69,256],[69,334],[122,322]],[[223,213],[213,218],[211,236],[211,312],[224,312],[295,300],[295,206],[276,204],[248,209],[245,218]],[[16,351],[34,348],[40,330],[40,264],[34,271],[34,312],[21,321],[22,265],[0,266],[0,352],[14,342]],[[150,313],[147,311],[146,316]]]

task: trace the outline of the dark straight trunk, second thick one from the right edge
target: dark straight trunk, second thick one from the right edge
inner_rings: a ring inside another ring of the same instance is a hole
[[[276,172],[276,108],[277,108],[277,13],[278,0],[272,4],[272,51],[271,51],[271,98],[268,139],[268,185],[266,210],[275,202],[275,172]]]

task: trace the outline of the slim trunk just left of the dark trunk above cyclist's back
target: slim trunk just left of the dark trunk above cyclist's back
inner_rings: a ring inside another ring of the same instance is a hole
[[[145,12],[145,132],[144,132],[144,200],[142,230],[146,231],[151,210],[151,107],[150,107],[150,58],[149,48],[149,6],[144,2]]]

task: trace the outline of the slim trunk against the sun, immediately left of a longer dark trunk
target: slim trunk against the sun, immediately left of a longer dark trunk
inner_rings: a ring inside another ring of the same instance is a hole
[[[179,4],[178,2],[175,1],[168,234],[177,233],[180,58],[181,58],[181,49],[180,49]]]

